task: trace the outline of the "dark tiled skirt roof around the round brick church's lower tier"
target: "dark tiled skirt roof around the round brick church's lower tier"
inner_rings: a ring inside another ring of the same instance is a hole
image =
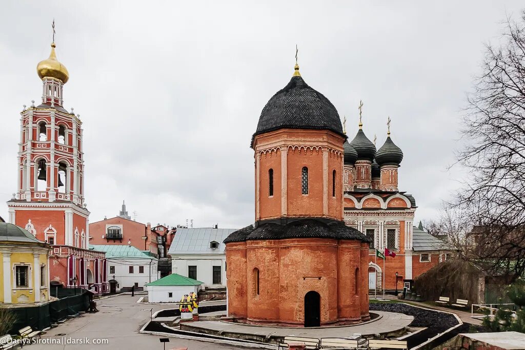
[[[344,225],[343,221],[329,219],[290,219],[286,224],[277,220],[261,221],[256,227],[250,225],[233,232],[224,242],[286,238],[354,239],[370,242],[360,231]]]

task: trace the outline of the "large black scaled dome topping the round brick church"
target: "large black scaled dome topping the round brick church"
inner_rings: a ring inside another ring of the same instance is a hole
[[[293,76],[288,85],[266,103],[254,137],[281,128],[327,129],[345,136],[332,102],[310,88],[300,76]]]

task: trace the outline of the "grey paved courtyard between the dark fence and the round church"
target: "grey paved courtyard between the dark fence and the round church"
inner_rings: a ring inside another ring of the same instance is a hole
[[[43,335],[43,344],[24,346],[28,350],[51,349],[163,349],[159,342],[160,336],[140,334],[142,325],[150,319],[150,310],[153,312],[167,309],[165,305],[145,305],[136,303],[138,296],[119,295],[97,302],[100,312],[83,314],[76,319],[67,321],[56,328],[51,328]],[[59,336],[57,334],[65,333]],[[79,341],[87,338],[90,344],[49,344],[58,340]],[[93,340],[107,340],[106,344],[95,344]],[[45,342],[45,343],[44,343]],[[232,345],[221,345],[209,342],[199,342],[170,337],[166,349],[187,347],[188,350],[199,349],[233,349]]]

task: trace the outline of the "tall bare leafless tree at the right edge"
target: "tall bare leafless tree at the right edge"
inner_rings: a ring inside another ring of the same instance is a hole
[[[458,161],[470,169],[453,204],[474,228],[468,259],[488,270],[525,271],[525,11],[508,18],[499,45],[487,45],[483,73],[468,98]],[[459,228],[459,227],[457,227]]]

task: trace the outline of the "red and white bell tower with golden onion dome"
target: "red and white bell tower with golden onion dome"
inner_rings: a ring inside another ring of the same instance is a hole
[[[105,254],[88,249],[82,122],[73,109],[63,107],[69,73],[56,58],[55,43],[37,72],[43,82],[42,103],[35,107],[31,101],[20,112],[18,187],[7,202],[9,222],[53,247],[51,281],[107,292]]]

